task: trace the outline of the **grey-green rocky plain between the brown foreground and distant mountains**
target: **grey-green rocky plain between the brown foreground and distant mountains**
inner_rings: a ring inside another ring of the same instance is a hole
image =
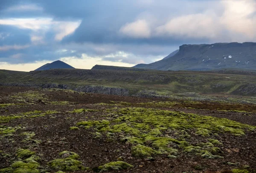
[[[256,96],[254,71],[128,71],[52,69],[0,70],[0,85],[60,88],[121,96],[201,95]]]

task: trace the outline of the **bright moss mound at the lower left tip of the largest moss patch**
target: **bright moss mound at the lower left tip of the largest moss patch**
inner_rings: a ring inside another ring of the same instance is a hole
[[[151,147],[139,144],[131,148],[131,154],[135,157],[151,157],[162,153],[160,151],[153,150]]]

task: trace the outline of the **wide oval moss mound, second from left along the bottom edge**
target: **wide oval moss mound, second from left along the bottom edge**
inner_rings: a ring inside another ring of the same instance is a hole
[[[82,162],[79,162],[75,159],[55,159],[51,162],[48,162],[48,165],[54,170],[63,170],[63,171],[76,171],[83,168]]]

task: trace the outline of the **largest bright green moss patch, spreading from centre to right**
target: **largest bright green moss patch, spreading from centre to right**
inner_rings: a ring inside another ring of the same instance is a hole
[[[229,119],[199,116],[192,113],[163,111],[147,108],[111,109],[108,120],[83,121],[77,125],[84,128],[96,127],[97,132],[105,132],[108,138],[119,138],[121,142],[134,145],[133,156],[151,157],[165,154],[178,156],[178,150],[195,153],[208,159],[222,158],[221,150],[214,145],[221,145],[216,139],[192,146],[185,138],[190,138],[186,130],[195,129],[195,135],[210,137],[217,133],[244,135],[244,130],[255,130],[251,125]],[[169,136],[170,132],[174,136]],[[211,143],[212,142],[212,143]]]

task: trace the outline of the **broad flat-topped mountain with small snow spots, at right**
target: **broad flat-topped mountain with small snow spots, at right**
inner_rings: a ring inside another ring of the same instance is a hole
[[[256,69],[256,43],[181,45],[172,57],[134,68],[208,71],[221,68]]]

